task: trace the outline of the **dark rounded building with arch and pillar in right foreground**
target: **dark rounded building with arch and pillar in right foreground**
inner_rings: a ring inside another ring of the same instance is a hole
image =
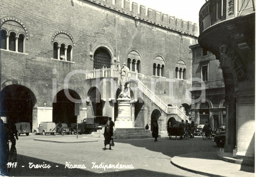
[[[225,152],[255,165],[255,4],[209,0],[199,11],[198,43],[220,62],[225,83]],[[210,42],[209,42],[210,41]]]

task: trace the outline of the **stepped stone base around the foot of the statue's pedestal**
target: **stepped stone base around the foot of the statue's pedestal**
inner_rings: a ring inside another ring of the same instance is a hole
[[[104,138],[103,134],[104,130],[97,130],[97,132],[92,132],[92,134],[88,134],[86,137]],[[150,130],[145,130],[145,128],[114,128],[113,137],[116,140],[145,139],[152,138],[152,133],[150,132]],[[161,136],[158,135],[158,137]]]

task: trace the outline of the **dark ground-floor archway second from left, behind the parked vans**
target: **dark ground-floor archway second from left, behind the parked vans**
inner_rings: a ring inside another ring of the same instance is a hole
[[[81,100],[75,91],[68,89],[68,92],[72,98]],[[76,123],[75,103],[66,97],[64,90],[58,92],[56,97],[56,103],[53,103],[53,122]]]

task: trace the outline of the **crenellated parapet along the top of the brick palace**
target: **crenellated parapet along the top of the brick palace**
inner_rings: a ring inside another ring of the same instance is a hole
[[[116,10],[118,12],[124,13],[126,15],[132,16],[137,20],[145,21],[156,26],[167,28],[173,31],[180,32],[182,34],[188,34],[192,36],[198,36],[197,24],[192,22],[185,22],[182,19],[177,19],[175,16],[169,16],[168,14],[163,14],[157,10],[148,8],[146,15],[146,7],[138,5],[132,2],[130,10],[130,1],[124,0],[122,6],[122,0],[74,0],[74,1],[91,1],[107,8]],[[139,9],[139,13],[138,13]]]

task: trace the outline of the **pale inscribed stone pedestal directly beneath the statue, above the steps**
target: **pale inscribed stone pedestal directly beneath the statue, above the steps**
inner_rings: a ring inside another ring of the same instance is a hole
[[[131,119],[131,99],[130,98],[118,98],[118,116],[115,121],[115,128],[132,128]]]

